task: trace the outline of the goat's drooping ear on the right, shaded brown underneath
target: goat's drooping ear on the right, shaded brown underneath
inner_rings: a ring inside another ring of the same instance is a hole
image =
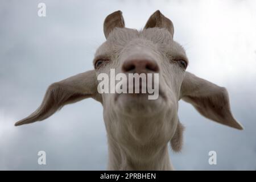
[[[243,129],[232,115],[228,92],[224,87],[186,72],[181,84],[180,98],[192,104],[208,119],[239,130]]]

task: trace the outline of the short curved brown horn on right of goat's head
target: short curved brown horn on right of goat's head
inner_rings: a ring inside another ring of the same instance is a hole
[[[166,16],[164,16],[159,10],[155,11],[155,13],[150,16],[144,28],[154,27],[166,28],[171,33],[172,38],[174,37],[174,24],[172,24],[172,21],[166,18]]]

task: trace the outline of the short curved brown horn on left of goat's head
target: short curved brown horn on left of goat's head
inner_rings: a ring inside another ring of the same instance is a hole
[[[115,28],[125,27],[125,21],[123,20],[122,11],[115,11],[114,13],[106,16],[104,20],[104,34],[106,39],[109,36],[109,33]]]

